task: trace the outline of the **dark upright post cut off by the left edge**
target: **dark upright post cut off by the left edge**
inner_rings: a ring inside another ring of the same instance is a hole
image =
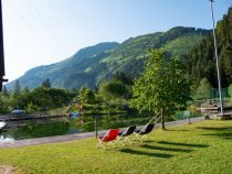
[[[3,23],[2,23],[2,0],[0,0],[0,91],[2,90],[2,84],[8,81],[4,79],[4,45],[3,45]]]

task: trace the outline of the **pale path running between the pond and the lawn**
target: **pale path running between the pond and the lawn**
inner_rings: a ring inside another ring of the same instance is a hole
[[[191,122],[202,121],[203,117],[192,118]],[[180,120],[180,121],[172,121],[166,122],[166,127],[170,126],[178,126],[178,124],[187,124],[188,120]],[[159,128],[160,123],[157,123],[155,129]],[[143,127],[141,127],[143,128]],[[106,133],[107,130],[98,131],[98,134]],[[56,135],[56,137],[48,137],[48,138],[40,138],[40,139],[28,139],[28,140],[19,140],[19,141],[0,141],[0,148],[18,148],[18,146],[27,146],[27,145],[38,145],[38,144],[45,144],[45,143],[56,143],[56,142],[66,142],[66,141],[74,141],[81,139],[93,138],[95,132],[87,132],[87,133],[76,133],[76,134],[66,134],[66,135]],[[1,167],[0,167],[0,174]]]

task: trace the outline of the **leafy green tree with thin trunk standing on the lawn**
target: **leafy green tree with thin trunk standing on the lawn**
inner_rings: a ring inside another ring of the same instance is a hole
[[[190,83],[184,66],[176,58],[167,58],[161,51],[149,51],[145,72],[135,80],[133,96],[130,105],[139,111],[161,113],[165,129],[165,118],[190,99]]]

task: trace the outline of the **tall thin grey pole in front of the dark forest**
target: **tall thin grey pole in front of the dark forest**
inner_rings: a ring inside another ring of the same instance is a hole
[[[218,55],[218,46],[217,46],[217,40],[215,40],[215,22],[214,22],[214,14],[213,14],[213,6],[212,2],[214,0],[210,1],[210,8],[211,8],[211,15],[212,15],[212,25],[213,25],[213,40],[214,40],[214,50],[215,50],[215,61],[217,61],[217,73],[218,73],[218,84],[219,84],[219,99],[220,99],[220,108],[221,108],[221,116],[223,116],[223,101],[222,101],[222,90],[221,90],[221,76],[220,76],[220,67],[219,67],[219,55]]]

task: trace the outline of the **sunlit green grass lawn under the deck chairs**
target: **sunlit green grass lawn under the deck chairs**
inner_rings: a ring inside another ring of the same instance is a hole
[[[97,150],[95,139],[0,150],[23,173],[232,173],[232,121],[154,131],[149,140]],[[21,172],[20,172],[21,173]]]

